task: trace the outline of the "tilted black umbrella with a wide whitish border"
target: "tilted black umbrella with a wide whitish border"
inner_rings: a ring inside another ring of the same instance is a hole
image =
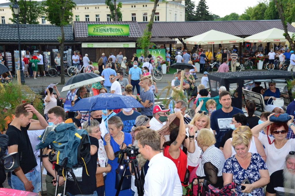
[[[81,86],[86,86],[89,84],[94,84],[96,82],[100,82],[105,80],[100,75],[94,74],[94,73],[82,73],[78,74],[71,79],[69,79],[65,85],[63,86],[63,89],[61,89],[61,92],[69,91],[71,89],[76,89]]]

